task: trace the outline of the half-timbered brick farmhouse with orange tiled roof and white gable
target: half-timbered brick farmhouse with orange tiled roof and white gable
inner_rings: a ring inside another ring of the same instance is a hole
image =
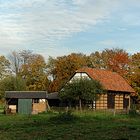
[[[81,68],[77,70],[70,81],[77,78],[98,80],[106,90],[100,98],[87,104],[96,109],[130,109],[130,94],[135,91],[123,77],[115,72],[103,69]]]

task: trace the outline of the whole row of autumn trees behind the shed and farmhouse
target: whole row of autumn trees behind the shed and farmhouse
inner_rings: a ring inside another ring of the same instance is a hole
[[[5,90],[32,90],[54,92],[81,67],[111,70],[123,76],[140,95],[140,52],[133,55],[123,49],[104,49],[90,55],[71,53],[49,57],[30,50],[13,51],[0,56],[0,95]]]

